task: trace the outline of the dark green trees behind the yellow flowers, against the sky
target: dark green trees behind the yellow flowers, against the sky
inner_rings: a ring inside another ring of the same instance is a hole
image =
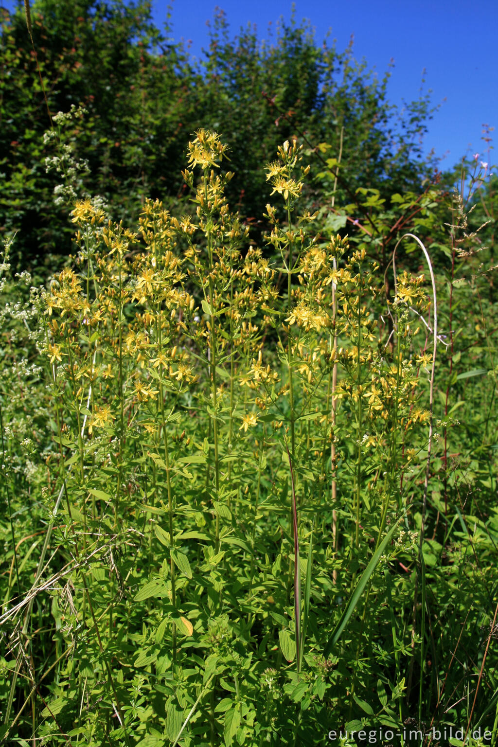
[[[310,202],[322,201],[336,175],[335,205],[353,205],[355,218],[365,213],[358,187],[379,188],[382,199],[408,189],[416,199],[426,188],[431,165],[420,138],[429,98],[399,114],[387,100],[389,72],[379,80],[355,61],[352,45],[344,52],[328,40],[318,46],[306,22],[292,17],[260,40],[251,26],[231,35],[217,10],[198,62],[183,43],[169,40],[167,25],[166,35],[155,28],[146,0],[37,0],[31,16],[34,49],[21,9],[4,10],[1,25],[0,229],[19,232],[24,260],[66,253],[70,235],[67,209],[52,196],[60,176],[45,173],[50,120],[37,62],[52,114],[71,105],[87,109],[66,133],[75,157],[90,167],[78,189],[101,195],[117,219],[136,220],[144,196],[169,206],[183,202],[184,151],[193,131],[205,126],[231,143],[228,198],[253,226],[255,240],[264,230],[266,200],[259,167],[288,137],[305,137],[315,172],[326,166],[317,146],[327,143],[327,155],[337,158],[342,142],[340,173],[329,169],[331,182],[323,171],[308,188]]]

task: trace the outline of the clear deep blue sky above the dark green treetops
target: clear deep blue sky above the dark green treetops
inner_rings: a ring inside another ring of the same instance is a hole
[[[169,3],[152,4],[163,31]],[[202,47],[208,46],[206,22],[217,5],[225,10],[232,35],[250,22],[260,38],[267,36],[270,22],[275,28],[280,16],[288,21],[292,7],[290,0],[174,0],[172,36],[192,40],[194,55],[202,57]],[[481,140],[482,125],[498,128],[497,0],[296,0],[295,6],[296,20],[309,19],[316,29],[317,44],[330,30],[342,51],[353,35],[355,57],[365,58],[379,77],[393,59],[388,87],[393,103],[417,99],[425,78],[424,90],[432,90],[432,102],[441,108],[429,123],[424,146],[444,157],[443,168],[466,153],[498,161],[498,151],[489,154]]]

